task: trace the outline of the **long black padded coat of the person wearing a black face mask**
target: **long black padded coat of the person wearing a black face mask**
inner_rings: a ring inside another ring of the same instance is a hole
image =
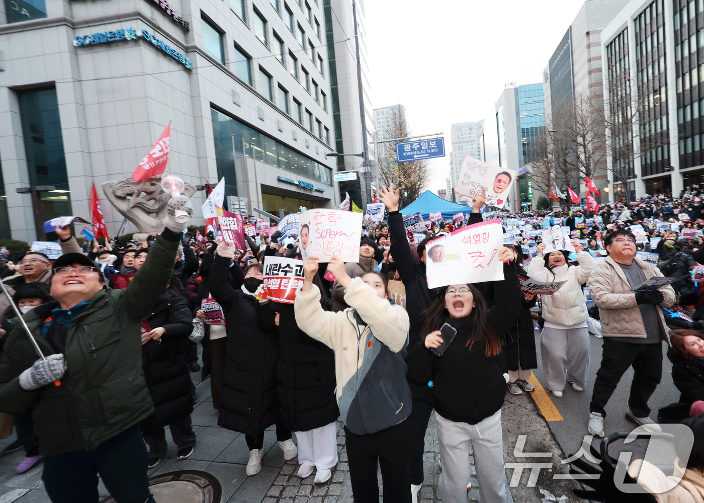
[[[229,282],[230,259],[215,254],[210,269],[210,294],[222,307],[227,326],[227,364],[222,379],[218,426],[246,435],[258,435],[279,417],[276,365],[277,330],[263,332],[257,325],[259,302]],[[230,268],[244,280],[241,268]],[[276,327],[275,327],[276,328]]]

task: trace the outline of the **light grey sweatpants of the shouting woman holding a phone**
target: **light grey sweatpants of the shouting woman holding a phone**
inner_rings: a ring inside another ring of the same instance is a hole
[[[501,410],[477,424],[455,423],[435,414],[442,473],[438,482],[443,503],[467,503],[470,483],[470,444],[477,468],[479,501],[504,503],[506,471],[503,467]]]

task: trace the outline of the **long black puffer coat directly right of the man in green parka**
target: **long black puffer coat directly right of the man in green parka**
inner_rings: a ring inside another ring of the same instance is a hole
[[[186,301],[167,291],[146,320],[151,329],[166,329],[161,342],[154,341],[142,351],[144,378],[154,402],[154,414],[142,421],[142,431],[151,433],[193,411],[186,356],[193,318]]]

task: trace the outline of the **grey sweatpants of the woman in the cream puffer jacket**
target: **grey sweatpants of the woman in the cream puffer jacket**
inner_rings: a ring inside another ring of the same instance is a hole
[[[545,327],[540,336],[540,352],[548,390],[564,390],[567,376],[577,385],[586,387],[590,356],[589,328]]]

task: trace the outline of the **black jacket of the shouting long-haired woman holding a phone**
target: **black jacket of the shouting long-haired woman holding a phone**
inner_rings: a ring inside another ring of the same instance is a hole
[[[504,266],[503,274],[505,279],[494,283],[496,305],[486,314],[496,333],[505,333],[515,325],[520,313],[521,291],[515,266]],[[503,352],[485,356],[483,342],[475,343],[471,350],[465,347],[472,336],[472,316],[474,311],[465,318],[445,318],[457,329],[457,335],[443,356],[436,356],[424,344],[407,360],[409,380],[434,381],[435,411],[450,421],[467,424],[477,424],[496,413],[506,395]]]

